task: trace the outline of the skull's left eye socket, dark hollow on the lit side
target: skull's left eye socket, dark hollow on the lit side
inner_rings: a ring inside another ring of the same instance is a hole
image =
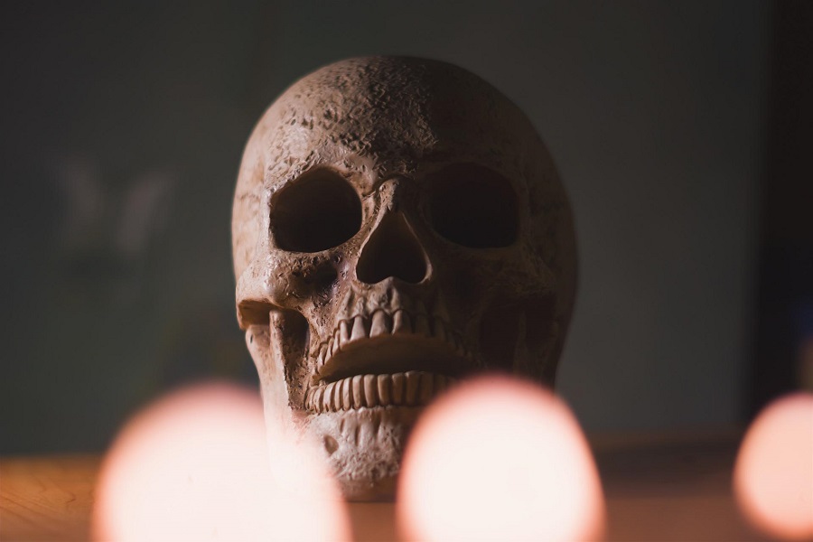
[[[361,201],[339,173],[318,169],[276,194],[271,232],[276,246],[292,252],[338,247],[361,228]]]

